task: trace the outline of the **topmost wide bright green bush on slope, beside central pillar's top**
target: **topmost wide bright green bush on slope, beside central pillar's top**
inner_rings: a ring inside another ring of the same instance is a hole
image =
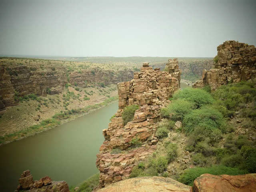
[[[211,94],[202,90],[195,88],[186,88],[176,92],[173,96],[173,100],[185,99],[193,104],[195,104],[196,108],[200,108],[206,104],[212,104],[213,98]]]

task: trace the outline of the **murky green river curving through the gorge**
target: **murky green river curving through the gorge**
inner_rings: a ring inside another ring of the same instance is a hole
[[[104,141],[118,102],[49,131],[0,147],[0,191],[16,189],[20,174],[30,170],[34,180],[50,176],[75,186],[98,172],[96,154]]]

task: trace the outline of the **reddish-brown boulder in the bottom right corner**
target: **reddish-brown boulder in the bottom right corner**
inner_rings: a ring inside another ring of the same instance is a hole
[[[212,175],[202,174],[194,180],[193,192],[255,192],[256,174]]]

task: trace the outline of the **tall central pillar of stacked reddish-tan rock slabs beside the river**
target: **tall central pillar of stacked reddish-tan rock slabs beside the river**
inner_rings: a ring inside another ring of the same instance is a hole
[[[180,70],[176,59],[166,64],[168,71],[153,69],[144,62],[134,79],[118,83],[118,111],[103,130],[105,141],[97,154],[96,165],[100,170],[102,187],[124,180],[130,176],[132,167],[156,150],[156,125],[161,120],[160,108],[180,88]],[[122,112],[126,106],[138,105],[132,122],[124,125]],[[143,142],[140,148],[130,148],[133,138]],[[126,150],[126,153],[112,154],[112,150]]]

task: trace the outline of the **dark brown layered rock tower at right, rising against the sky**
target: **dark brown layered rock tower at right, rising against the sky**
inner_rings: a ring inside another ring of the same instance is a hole
[[[193,87],[210,85],[215,90],[229,82],[240,82],[256,78],[256,48],[253,45],[226,41],[217,47],[218,62]]]

